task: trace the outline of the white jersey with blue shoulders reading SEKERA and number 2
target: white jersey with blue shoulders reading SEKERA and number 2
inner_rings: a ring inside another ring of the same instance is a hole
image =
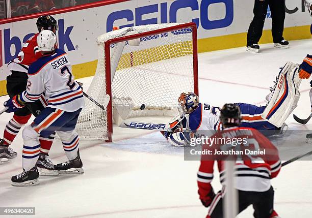
[[[65,51],[56,49],[54,54],[39,58],[29,67],[28,77],[22,101],[37,101],[44,92],[48,107],[73,112],[85,106],[82,87],[71,74]]]

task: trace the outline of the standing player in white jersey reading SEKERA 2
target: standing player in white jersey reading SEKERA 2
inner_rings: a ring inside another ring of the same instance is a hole
[[[53,32],[42,30],[37,43],[43,56],[29,67],[27,89],[4,103],[8,107],[7,112],[13,112],[28,102],[36,101],[43,92],[48,99],[48,106],[22,132],[23,172],[12,177],[12,185],[15,186],[39,183],[36,166],[40,152],[39,136],[47,137],[55,131],[61,138],[68,158],[67,162],[57,164],[55,169],[60,174],[84,172],[79,154],[79,137],[74,130],[85,105],[82,87],[74,81],[66,52],[56,49],[57,39]]]

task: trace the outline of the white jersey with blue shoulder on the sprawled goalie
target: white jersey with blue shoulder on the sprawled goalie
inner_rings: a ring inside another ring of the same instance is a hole
[[[195,111],[189,116],[189,127],[192,131],[209,131],[209,136],[222,129],[220,122],[220,108],[206,103],[199,103]],[[207,132],[208,133],[208,132]],[[206,135],[206,134],[204,134]]]

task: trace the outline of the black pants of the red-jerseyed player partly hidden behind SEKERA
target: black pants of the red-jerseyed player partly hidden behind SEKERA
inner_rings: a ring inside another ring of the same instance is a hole
[[[13,71],[11,75],[7,76],[7,92],[12,98],[15,95],[21,94],[26,90],[28,75],[24,72]],[[34,114],[37,116],[44,109],[40,101],[28,103],[25,107],[14,112],[17,116],[27,116]]]

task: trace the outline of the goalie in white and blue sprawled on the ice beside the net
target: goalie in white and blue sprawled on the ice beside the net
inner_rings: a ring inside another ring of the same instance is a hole
[[[297,106],[300,83],[299,65],[287,63],[271,88],[266,106],[236,104],[242,112],[240,127],[253,128],[267,136],[280,134],[288,129],[284,121]],[[193,137],[210,137],[222,130],[219,107],[199,103],[198,96],[192,92],[182,93],[178,103],[183,113],[169,123],[172,132],[163,132],[172,145],[188,146]]]

